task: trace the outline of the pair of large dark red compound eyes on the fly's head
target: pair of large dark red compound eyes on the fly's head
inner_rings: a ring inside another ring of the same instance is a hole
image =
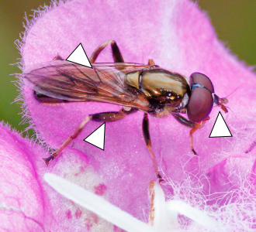
[[[192,93],[187,107],[188,118],[199,122],[207,118],[213,108],[214,87],[206,75],[192,73],[190,76]]]

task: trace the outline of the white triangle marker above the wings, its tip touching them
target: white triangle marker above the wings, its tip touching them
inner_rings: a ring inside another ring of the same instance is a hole
[[[69,61],[69,62],[72,62],[72,63],[78,63],[78,64],[81,64],[85,67],[92,68],[92,65],[91,65],[90,61],[88,60],[88,57],[85,53],[85,49],[83,48],[81,43],[79,43],[79,45],[67,57],[66,60]]]

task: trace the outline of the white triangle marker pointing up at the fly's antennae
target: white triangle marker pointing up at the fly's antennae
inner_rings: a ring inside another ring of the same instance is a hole
[[[213,125],[213,129],[209,135],[209,138],[216,137],[233,137],[230,133],[230,129],[227,127],[226,121],[224,120],[221,112],[219,112]]]

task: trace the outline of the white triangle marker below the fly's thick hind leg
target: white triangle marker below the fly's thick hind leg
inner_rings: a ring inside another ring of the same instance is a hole
[[[84,141],[94,145],[97,148],[100,148],[104,151],[105,147],[105,128],[106,122],[104,122],[99,128],[92,132],[91,135],[88,135]]]

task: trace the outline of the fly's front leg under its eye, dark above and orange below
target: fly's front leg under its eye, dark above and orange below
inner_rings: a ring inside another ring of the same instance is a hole
[[[194,155],[197,155],[195,150],[194,150],[194,145],[193,145],[193,134],[195,133],[196,130],[202,128],[205,124],[206,121],[209,120],[209,117],[207,117],[204,121],[201,122],[193,122],[193,121],[189,121],[188,119],[182,117],[182,115],[180,114],[172,114],[172,116],[179,121],[180,123],[182,123],[183,125],[192,128],[189,132],[189,138],[190,138],[190,144],[191,144],[191,150],[194,153]]]

